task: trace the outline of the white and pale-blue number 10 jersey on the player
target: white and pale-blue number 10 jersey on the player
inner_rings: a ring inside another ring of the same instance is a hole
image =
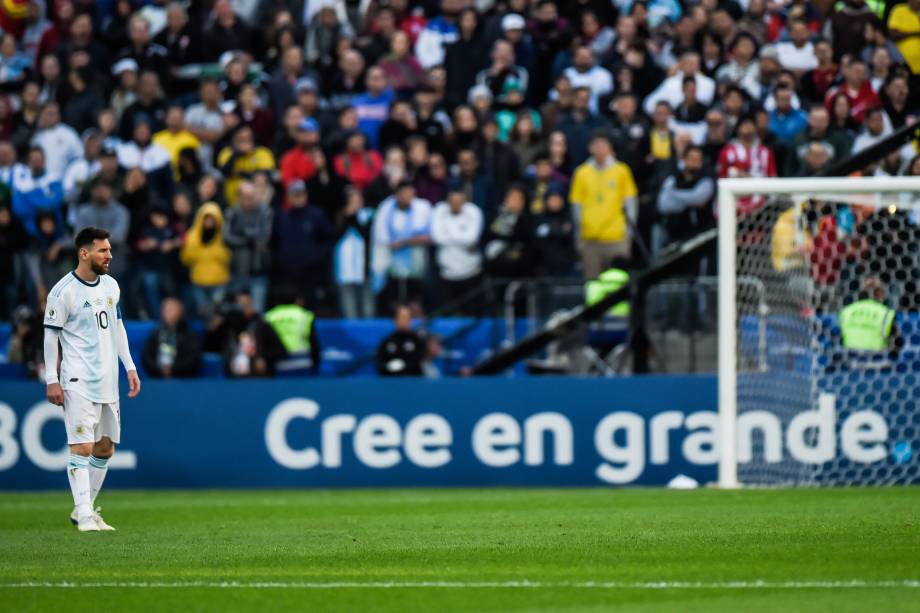
[[[60,331],[61,387],[100,404],[118,402],[120,297],[112,277],[87,283],[71,272],[49,292],[45,307],[45,327]]]

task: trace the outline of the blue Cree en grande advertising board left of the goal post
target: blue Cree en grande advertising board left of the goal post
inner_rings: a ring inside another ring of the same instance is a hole
[[[663,484],[716,477],[714,376],[146,381],[112,487]],[[0,489],[66,488],[62,410],[0,383]]]

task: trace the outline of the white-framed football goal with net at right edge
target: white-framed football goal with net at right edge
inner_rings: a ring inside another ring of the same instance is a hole
[[[719,484],[920,482],[920,177],[719,182]]]

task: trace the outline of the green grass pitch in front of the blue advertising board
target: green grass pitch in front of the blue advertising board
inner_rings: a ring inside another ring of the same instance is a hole
[[[4,611],[920,610],[920,488],[0,494]]]

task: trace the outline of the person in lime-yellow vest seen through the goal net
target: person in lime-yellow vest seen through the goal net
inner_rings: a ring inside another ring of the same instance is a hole
[[[894,349],[896,312],[885,304],[887,294],[877,278],[866,279],[861,299],[840,310],[844,349],[875,353]]]

